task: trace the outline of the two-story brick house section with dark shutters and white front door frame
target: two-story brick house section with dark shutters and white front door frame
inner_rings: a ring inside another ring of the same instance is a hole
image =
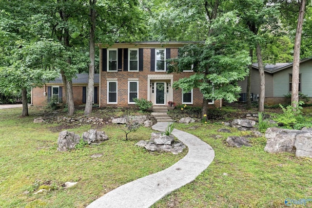
[[[144,98],[153,105],[178,104],[201,106],[203,95],[198,89],[182,93],[173,89],[175,81],[193,75],[193,69],[183,73],[167,74],[166,60],[176,57],[182,42],[136,42],[98,44],[100,53],[99,106],[128,107],[133,98]],[[211,107],[220,107],[220,100],[212,101]]]

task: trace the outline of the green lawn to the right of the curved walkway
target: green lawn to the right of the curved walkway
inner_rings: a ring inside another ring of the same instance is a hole
[[[215,150],[214,161],[193,183],[176,190],[153,208],[282,208],[288,197],[312,199],[312,158],[267,153],[264,137],[251,138],[252,148],[228,147],[225,139],[229,135],[249,132],[231,129],[232,133],[221,133],[216,131],[221,125],[199,126],[196,130],[185,125],[176,128],[210,144]],[[215,139],[215,134],[223,138]],[[307,207],[312,207],[312,202]]]

